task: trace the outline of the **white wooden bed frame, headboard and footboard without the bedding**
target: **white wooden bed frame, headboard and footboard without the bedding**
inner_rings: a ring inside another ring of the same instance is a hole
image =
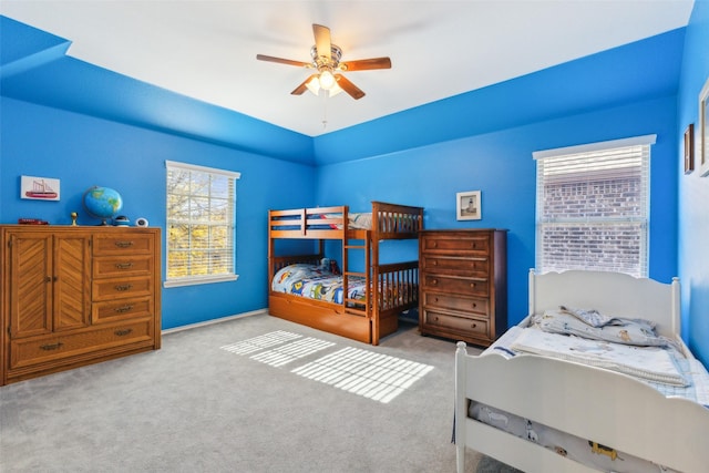
[[[657,323],[660,335],[679,338],[679,280],[660,284],[627,275],[530,271],[530,315],[559,305]],[[521,323],[526,326],[528,317]],[[465,448],[527,473],[594,471],[538,444],[467,417],[469,400],[546,424],[677,471],[709,471],[709,409],[666,398],[628,376],[533,354],[512,359],[455,353],[458,472]]]

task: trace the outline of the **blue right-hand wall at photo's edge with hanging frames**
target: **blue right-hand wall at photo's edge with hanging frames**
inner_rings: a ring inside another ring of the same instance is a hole
[[[690,123],[699,128],[699,92],[709,81],[709,1],[697,0],[687,27],[678,99],[676,134]],[[695,136],[697,138],[697,135]],[[677,156],[682,156],[682,142]],[[682,333],[689,348],[709,366],[709,176],[685,175],[679,181],[679,276],[682,281]]]

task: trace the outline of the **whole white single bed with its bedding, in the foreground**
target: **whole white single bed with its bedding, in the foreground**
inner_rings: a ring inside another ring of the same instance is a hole
[[[482,354],[458,343],[458,472],[466,448],[530,473],[707,471],[709,376],[679,338],[679,294],[678,279],[531,271],[527,318]],[[545,331],[559,327],[584,336]],[[572,339],[586,348],[567,350]],[[667,359],[671,369],[660,370]]]

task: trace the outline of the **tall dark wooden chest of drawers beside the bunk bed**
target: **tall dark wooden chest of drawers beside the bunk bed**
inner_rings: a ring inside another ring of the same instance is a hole
[[[507,329],[507,232],[422,230],[419,330],[487,347]]]

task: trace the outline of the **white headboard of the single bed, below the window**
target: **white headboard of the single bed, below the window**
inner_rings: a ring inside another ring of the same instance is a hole
[[[662,284],[620,273],[569,270],[537,275],[530,269],[530,315],[558,306],[643,318],[657,323],[659,335],[680,336],[679,278]]]

